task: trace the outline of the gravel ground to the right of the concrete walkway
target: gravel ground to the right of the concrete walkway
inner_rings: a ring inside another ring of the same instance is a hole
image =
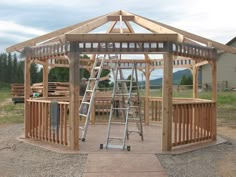
[[[179,154],[157,155],[169,177],[236,176],[236,141]]]

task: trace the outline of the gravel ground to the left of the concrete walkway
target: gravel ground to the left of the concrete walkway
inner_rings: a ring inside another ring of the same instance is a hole
[[[15,138],[23,124],[0,127],[1,177],[81,177],[87,155],[60,154]]]

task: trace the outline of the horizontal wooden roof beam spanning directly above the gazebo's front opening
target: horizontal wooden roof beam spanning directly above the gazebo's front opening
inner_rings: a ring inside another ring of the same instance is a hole
[[[177,41],[177,34],[66,34],[66,41],[79,42],[164,42]]]

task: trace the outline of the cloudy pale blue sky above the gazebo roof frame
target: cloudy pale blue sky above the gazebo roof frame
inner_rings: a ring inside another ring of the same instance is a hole
[[[226,43],[236,36],[235,5],[235,0],[0,0],[0,52],[120,9]]]

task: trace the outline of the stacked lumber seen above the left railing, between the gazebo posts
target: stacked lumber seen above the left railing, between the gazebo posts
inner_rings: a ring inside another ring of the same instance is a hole
[[[32,85],[31,90],[33,93],[43,94],[43,83],[35,83]],[[49,82],[48,83],[48,96],[64,97],[69,95],[68,82]]]

